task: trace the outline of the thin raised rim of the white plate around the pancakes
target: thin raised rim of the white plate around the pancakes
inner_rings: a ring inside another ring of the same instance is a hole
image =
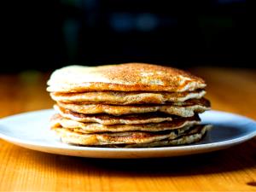
[[[22,115],[29,115],[30,113],[47,113],[47,112],[53,112],[54,109],[49,108],[49,109],[42,109],[42,110],[35,110],[35,111],[30,111],[30,112],[25,112],[25,113],[17,113],[14,115],[10,115],[7,117],[3,117],[0,119],[0,124],[2,121],[4,122],[5,120],[12,119],[15,117],[19,117]],[[218,110],[210,110],[209,112],[212,113],[225,113],[227,115],[233,115],[236,116],[237,118],[242,118],[242,119],[247,119],[247,121],[250,121],[253,123],[253,125],[256,126],[256,121],[254,119],[247,118],[246,116],[236,114],[236,113],[229,113],[225,111],[218,111]],[[233,146],[239,143],[246,142],[247,140],[252,139],[253,137],[256,137],[256,129],[255,131],[250,132],[249,134],[242,136],[242,137],[237,137],[233,138],[227,141],[221,141],[221,142],[214,142],[214,143],[202,143],[202,144],[189,144],[189,145],[183,145],[183,146],[166,146],[166,147],[158,147],[158,148],[102,148],[102,147],[86,147],[86,146],[75,146],[75,145],[68,145],[65,144],[63,146],[61,145],[53,145],[53,144],[48,144],[48,143],[36,143],[32,141],[27,141],[21,138],[17,137],[11,137],[7,136],[3,133],[0,132],[0,138],[3,140],[9,142],[9,143],[15,143],[19,145],[18,143],[23,144],[23,145],[30,145],[30,146],[35,146],[35,147],[43,147],[43,148],[51,148],[51,149],[68,149],[68,150],[76,150],[76,151],[104,151],[104,152],[149,152],[149,151],[177,151],[177,150],[200,150],[200,149],[211,149],[211,148],[216,148],[216,147],[221,147],[221,148],[228,148],[229,146]],[[24,147],[24,146],[23,146]]]

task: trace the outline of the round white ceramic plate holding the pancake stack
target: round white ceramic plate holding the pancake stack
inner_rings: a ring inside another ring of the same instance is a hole
[[[61,143],[49,130],[52,109],[20,113],[0,120],[0,137],[9,143],[51,154],[95,158],[153,158],[200,154],[229,148],[256,136],[252,119],[218,111],[201,114],[202,123],[212,124],[212,131],[200,143],[162,148],[92,148]]]

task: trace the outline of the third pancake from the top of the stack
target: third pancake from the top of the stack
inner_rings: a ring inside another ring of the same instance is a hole
[[[57,102],[61,108],[67,108],[77,113],[108,113],[113,115],[122,115],[129,113],[152,113],[162,112],[182,117],[191,117],[195,113],[203,113],[210,109],[210,103],[207,99],[200,99],[186,102],[185,106],[176,105],[132,105],[115,106],[106,104],[73,104]],[[179,104],[178,104],[179,105]]]

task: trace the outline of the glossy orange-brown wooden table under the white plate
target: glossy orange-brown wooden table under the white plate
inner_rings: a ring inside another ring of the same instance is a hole
[[[256,72],[193,68],[207,80],[212,108],[256,119]],[[0,76],[0,117],[51,108],[48,77]],[[256,191],[256,139],[210,154],[101,160],[44,154],[0,140],[0,190]]]

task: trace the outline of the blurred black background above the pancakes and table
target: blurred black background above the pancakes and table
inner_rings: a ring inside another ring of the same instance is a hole
[[[4,73],[142,61],[253,67],[246,0],[61,0],[2,6]]]

